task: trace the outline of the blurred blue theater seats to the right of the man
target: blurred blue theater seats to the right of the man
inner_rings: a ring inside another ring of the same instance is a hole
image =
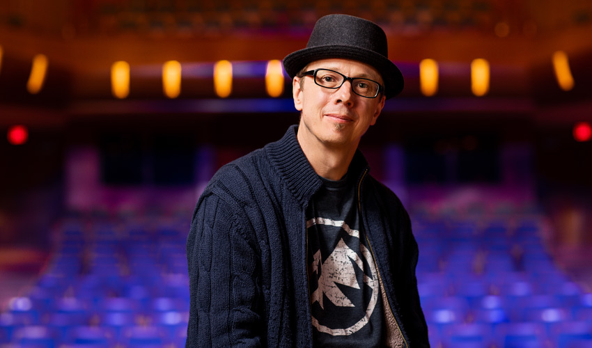
[[[592,294],[554,264],[538,214],[414,216],[435,347],[592,347]]]

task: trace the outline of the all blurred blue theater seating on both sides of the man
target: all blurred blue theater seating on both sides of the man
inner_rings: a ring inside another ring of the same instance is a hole
[[[592,294],[556,267],[540,216],[412,221],[433,347],[592,347]],[[0,346],[184,347],[188,222],[64,219],[36,285],[0,314]]]

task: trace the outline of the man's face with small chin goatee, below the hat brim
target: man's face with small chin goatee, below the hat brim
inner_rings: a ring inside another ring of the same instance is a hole
[[[349,59],[331,58],[314,61],[306,70],[325,68],[341,72],[348,77],[364,77],[384,82],[375,68]],[[301,79],[302,84],[300,83]],[[301,145],[325,145],[329,148],[355,149],[366,133],[374,125],[384,106],[384,95],[375,98],[361,97],[352,92],[350,81],[345,81],[338,89],[318,86],[314,77],[295,77],[293,97],[297,110],[302,111],[298,129]]]

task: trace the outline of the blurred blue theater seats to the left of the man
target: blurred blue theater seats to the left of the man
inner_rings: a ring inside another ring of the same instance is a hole
[[[0,315],[0,347],[185,347],[188,221],[74,216],[36,286]]]

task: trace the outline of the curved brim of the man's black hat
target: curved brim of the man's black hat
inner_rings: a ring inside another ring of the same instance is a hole
[[[326,58],[346,58],[371,65],[378,70],[384,80],[384,95],[387,99],[398,95],[403,90],[403,74],[397,66],[381,54],[369,49],[346,45],[321,45],[299,49],[283,58],[283,68],[290,78],[307,64]]]

